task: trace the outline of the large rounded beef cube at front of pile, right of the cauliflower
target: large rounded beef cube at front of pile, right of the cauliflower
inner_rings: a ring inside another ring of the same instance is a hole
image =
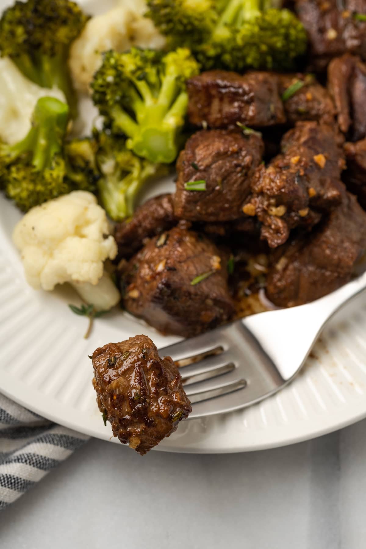
[[[185,337],[230,320],[227,260],[194,231],[174,227],[131,258],[125,307],[165,334]]]

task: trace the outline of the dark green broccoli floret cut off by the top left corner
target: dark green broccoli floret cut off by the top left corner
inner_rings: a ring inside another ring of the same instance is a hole
[[[0,19],[0,52],[38,86],[60,88],[76,114],[67,58],[88,16],[69,0],[15,2]]]

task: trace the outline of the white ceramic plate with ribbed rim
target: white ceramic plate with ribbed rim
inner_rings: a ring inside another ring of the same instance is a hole
[[[0,0],[0,9],[4,6]],[[97,5],[95,3],[94,5]],[[165,182],[164,190],[173,188]],[[163,186],[150,189],[161,192]],[[0,391],[31,410],[72,429],[109,440],[92,388],[87,355],[109,341],[144,333],[158,347],[163,337],[136,318],[116,311],[95,321],[67,307],[78,302],[66,288],[35,292],[25,282],[11,242],[20,214],[0,197]],[[301,326],[299,326],[301,333]],[[158,449],[238,452],[291,444],[329,433],[366,416],[366,296],[338,315],[295,381],[247,410],[186,421]],[[113,439],[116,441],[116,439]],[[122,446],[121,446],[122,447]]]

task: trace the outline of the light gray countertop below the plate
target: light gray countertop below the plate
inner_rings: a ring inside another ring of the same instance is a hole
[[[233,455],[91,440],[0,514],[1,549],[364,549],[366,421]]]

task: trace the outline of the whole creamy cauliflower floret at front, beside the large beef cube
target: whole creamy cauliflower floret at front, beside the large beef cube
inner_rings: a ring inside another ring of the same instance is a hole
[[[104,272],[117,244],[105,211],[92,193],[74,191],[36,206],[17,223],[13,241],[27,282],[47,292],[69,282],[97,310],[109,310],[120,294]]]

